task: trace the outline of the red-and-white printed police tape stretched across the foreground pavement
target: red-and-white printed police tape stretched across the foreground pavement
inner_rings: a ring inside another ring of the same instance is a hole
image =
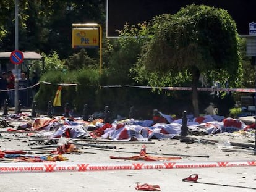
[[[206,162],[35,162],[0,163],[1,173],[45,173],[45,172],[90,172],[105,170],[142,170],[142,169],[188,169],[218,167],[252,167],[256,161],[206,161]]]

